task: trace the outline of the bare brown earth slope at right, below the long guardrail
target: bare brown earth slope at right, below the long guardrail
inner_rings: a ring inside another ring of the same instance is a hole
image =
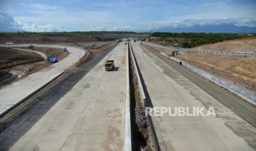
[[[177,58],[218,75],[244,89],[256,92],[256,57],[186,53]]]

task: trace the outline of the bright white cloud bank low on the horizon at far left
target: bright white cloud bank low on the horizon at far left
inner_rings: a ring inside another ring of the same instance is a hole
[[[15,21],[13,16],[0,12],[0,31],[2,32],[17,32],[17,31],[30,31],[30,32],[53,32],[58,31],[58,28],[52,24],[37,25],[28,24],[24,22]]]

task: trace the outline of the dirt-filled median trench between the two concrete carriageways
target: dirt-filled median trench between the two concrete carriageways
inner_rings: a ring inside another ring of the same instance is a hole
[[[157,140],[155,121],[152,117],[145,116],[145,107],[152,107],[152,105],[150,105],[150,99],[146,99],[145,86],[141,81],[142,77],[129,41],[128,51],[132,150],[162,150]]]

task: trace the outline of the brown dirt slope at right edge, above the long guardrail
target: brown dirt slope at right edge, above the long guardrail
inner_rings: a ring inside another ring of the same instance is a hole
[[[236,40],[227,40],[220,43],[195,47],[199,50],[222,50],[222,51],[246,51],[256,53],[256,37],[248,37]]]

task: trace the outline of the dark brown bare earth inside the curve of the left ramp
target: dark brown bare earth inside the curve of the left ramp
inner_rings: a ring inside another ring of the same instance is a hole
[[[28,49],[26,47],[20,47],[22,49]],[[34,50],[40,51],[46,54],[50,59],[51,56],[57,56],[58,60],[61,61],[64,57],[68,56],[68,51],[63,52],[59,48],[40,48],[37,47]],[[22,51],[12,48],[0,47],[0,73],[1,81],[8,79],[11,75],[9,71],[21,71],[28,76],[32,73],[40,71],[43,68],[52,65],[52,63],[44,61],[42,57],[38,54]],[[22,78],[24,78],[22,77]],[[3,87],[5,85],[1,85]]]

